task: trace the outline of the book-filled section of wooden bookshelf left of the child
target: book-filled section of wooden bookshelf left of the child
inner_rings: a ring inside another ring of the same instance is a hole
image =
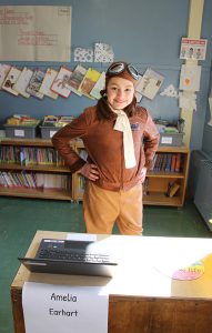
[[[0,140],[0,195],[73,200],[72,174],[50,140]]]

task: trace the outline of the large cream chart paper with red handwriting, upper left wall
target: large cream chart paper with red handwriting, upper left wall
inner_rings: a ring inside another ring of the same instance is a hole
[[[0,6],[0,61],[71,60],[71,7]]]

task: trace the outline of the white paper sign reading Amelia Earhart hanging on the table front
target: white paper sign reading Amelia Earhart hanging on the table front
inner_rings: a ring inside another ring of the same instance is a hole
[[[26,282],[26,333],[107,333],[109,295],[102,286]]]

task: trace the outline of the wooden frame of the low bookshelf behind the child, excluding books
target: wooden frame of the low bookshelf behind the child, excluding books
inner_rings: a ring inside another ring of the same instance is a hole
[[[73,149],[79,153],[84,149],[81,140],[75,140],[70,143]],[[1,139],[0,145],[12,147],[32,147],[32,148],[53,148],[51,140],[43,139]],[[165,171],[149,171],[147,178],[149,180],[148,193],[143,195],[143,203],[150,205],[170,205],[182,206],[184,204],[186,180],[190,162],[190,150],[186,147],[159,147],[158,153],[181,153],[182,168],[181,172],[165,172]],[[0,188],[0,195],[8,196],[26,196],[26,198],[39,198],[39,199],[54,199],[54,200],[74,200],[82,201],[83,199],[83,181],[79,173],[71,174],[69,168],[57,167],[53,164],[28,164],[20,165],[17,163],[0,163],[0,171],[6,172],[34,172],[34,173],[52,173],[63,174],[71,176],[71,190],[63,189],[32,189],[32,188],[14,188],[9,186]],[[168,191],[169,182],[176,181],[180,184],[180,189],[173,198],[165,195]]]

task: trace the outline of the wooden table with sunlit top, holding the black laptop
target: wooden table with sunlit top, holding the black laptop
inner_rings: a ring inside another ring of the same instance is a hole
[[[65,239],[67,234],[37,231],[26,256],[34,256],[41,239]],[[16,333],[26,332],[21,302],[26,281],[107,285],[109,333],[212,333],[211,239],[98,235],[98,242],[118,255],[119,270],[113,279],[30,273],[20,265],[11,284]],[[204,266],[201,278],[171,279],[175,268],[200,260]]]

